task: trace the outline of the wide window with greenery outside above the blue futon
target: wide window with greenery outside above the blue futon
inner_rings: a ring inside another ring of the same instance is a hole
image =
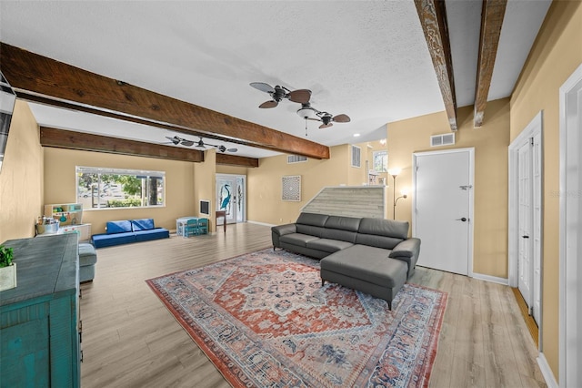
[[[76,197],[83,209],[165,206],[166,172],[76,168]]]

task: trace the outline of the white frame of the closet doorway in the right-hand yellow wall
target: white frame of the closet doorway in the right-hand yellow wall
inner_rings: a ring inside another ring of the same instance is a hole
[[[520,236],[519,236],[519,230],[518,230],[518,220],[519,220],[519,200],[518,200],[518,193],[519,193],[519,189],[518,189],[518,175],[519,175],[519,155],[518,155],[518,150],[519,148],[521,148],[521,146],[528,141],[529,138],[535,138],[536,136],[539,135],[540,138],[540,150],[539,150],[539,156],[541,158],[541,171],[540,174],[542,176],[542,184],[541,187],[539,188],[535,188],[535,185],[532,186],[534,188],[535,192],[532,192],[533,197],[532,197],[532,203],[534,203],[534,198],[539,198],[540,199],[540,203],[543,206],[543,177],[544,177],[544,145],[543,145],[543,132],[542,132],[542,127],[543,127],[543,111],[539,111],[537,112],[536,117],[534,117],[529,124],[527,124],[526,128],[524,128],[524,130],[521,131],[521,133],[519,134],[519,136],[517,136],[517,138],[515,138],[511,144],[509,145],[508,148],[508,161],[509,161],[509,179],[508,179],[508,201],[509,201],[509,209],[508,209],[508,220],[507,220],[507,230],[508,230],[508,236],[507,236],[507,280],[509,283],[510,287],[517,287],[518,284],[518,271],[517,271],[517,265],[518,265],[518,256],[519,256],[519,240],[520,240]],[[534,166],[532,165],[532,168],[534,168]],[[539,222],[539,225],[536,225],[535,223]],[[544,258],[543,258],[543,228],[541,228],[540,226],[543,225],[543,211],[542,211],[542,216],[540,217],[539,220],[536,220],[535,217],[532,218],[532,227],[531,227],[531,232],[535,233],[536,230],[540,230],[540,233],[542,234],[542,236],[531,236],[532,239],[536,239],[538,238],[540,241],[540,247],[539,247],[539,254],[541,255],[540,257],[540,274],[539,277],[540,279],[538,280],[538,284],[539,284],[539,292],[540,295],[543,295],[543,268],[544,268]],[[532,255],[534,254],[534,250],[531,250]],[[533,266],[533,258],[531,260],[532,262],[532,266]],[[533,267],[532,267],[533,269]],[[533,282],[532,281],[532,285],[531,287],[533,287]],[[530,303],[533,303],[533,299],[532,301],[530,301]],[[531,306],[529,306],[529,308],[531,308]],[[539,317],[542,317],[542,313],[543,313],[543,305],[540,301],[540,308],[539,308]],[[542,351],[542,335],[543,335],[543,325],[542,325],[542,319],[539,320],[539,322],[537,322],[537,326],[539,328],[538,331],[538,351],[541,352]]]

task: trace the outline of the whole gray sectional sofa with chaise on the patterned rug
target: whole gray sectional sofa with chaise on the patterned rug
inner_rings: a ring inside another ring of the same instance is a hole
[[[420,240],[408,222],[301,213],[271,229],[273,248],[321,260],[322,285],[332,281],[392,301],[416,268]]]

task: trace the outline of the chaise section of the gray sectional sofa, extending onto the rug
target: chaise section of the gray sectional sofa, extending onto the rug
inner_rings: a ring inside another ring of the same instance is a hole
[[[407,279],[406,261],[390,259],[386,250],[366,245],[338,250],[323,258],[320,264],[322,286],[326,281],[333,281],[366,292],[387,301],[390,310],[392,300]]]

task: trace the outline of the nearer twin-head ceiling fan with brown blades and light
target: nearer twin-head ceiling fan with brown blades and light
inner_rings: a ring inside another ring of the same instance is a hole
[[[333,122],[347,123],[350,121],[350,118],[347,115],[341,114],[332,116],[330,113],[319,111],[315,107],[311,107],[311,104],[309,103],[309,100],[311,99],[311,90],[309,89],[297,89],[291,91],[286,87],[278,85],[276,87],[271,87],[265,82],[251,82],[250,86],[269,94],[272,98],[258,107],[276,107],[283,98],[301,104],[301,107],[297,109],[297,115],[306,120],[306,136],[307,120],[321,121],[323,124],[320,125],[319,128],[329,128],[334,125]]]

